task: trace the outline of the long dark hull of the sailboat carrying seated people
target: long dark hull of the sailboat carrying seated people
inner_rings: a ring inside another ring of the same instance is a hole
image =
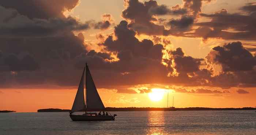
[[[88,115],[69,115],[73,121],[105,121],[115,120],[114,116],[88,116]]]

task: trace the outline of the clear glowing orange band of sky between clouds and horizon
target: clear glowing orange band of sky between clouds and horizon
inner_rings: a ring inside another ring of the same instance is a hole
[[[255,107],[255,91],[248,89],[250,94],[237,94],[235,90],[228,95],[214,94],[185,94],[169,93],[169,107]],[[18,112],[36,112],[42,108],[71,109],[76,89],[73,90],[45,90],[45,89],[19,89],[1,90],[0,109],[15,110]],[[148,93],[124,94],[115,93],[114,90],[98,90],[105,107],[166,107],[167,93],[160,101],[152,101]]]

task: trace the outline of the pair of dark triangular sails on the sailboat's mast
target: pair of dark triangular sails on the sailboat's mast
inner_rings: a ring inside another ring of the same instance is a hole
[[[85,69],[85,68],[84,68]],[[71,113],[78,111],[101,111],[105,107],[99,97],[99,93],[91,77],[90,70],[86,64],[86,104],[84,102],[84,70],[76,93]]]

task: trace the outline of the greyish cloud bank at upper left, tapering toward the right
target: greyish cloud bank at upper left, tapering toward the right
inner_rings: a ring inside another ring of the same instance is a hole
[[[6,9],[0,6],[1,37],[50,36],[65,34],[73,30],[87,30],[90,22],[80,23],[72,17],[29,19],[16,13],[15,9]]]

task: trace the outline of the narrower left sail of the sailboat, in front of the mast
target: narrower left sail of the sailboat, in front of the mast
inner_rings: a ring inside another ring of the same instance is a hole
[[[83,74],[82,74],[82,77],[80,80],[80,84],[78,86],[78,90],[76,92],[75,101],[74,101],[72,109],[71,109],[72,113],[82,111],[86,108],[85,103],[84,103],[83,85],[84,85],[84,69],[83,69]]]

